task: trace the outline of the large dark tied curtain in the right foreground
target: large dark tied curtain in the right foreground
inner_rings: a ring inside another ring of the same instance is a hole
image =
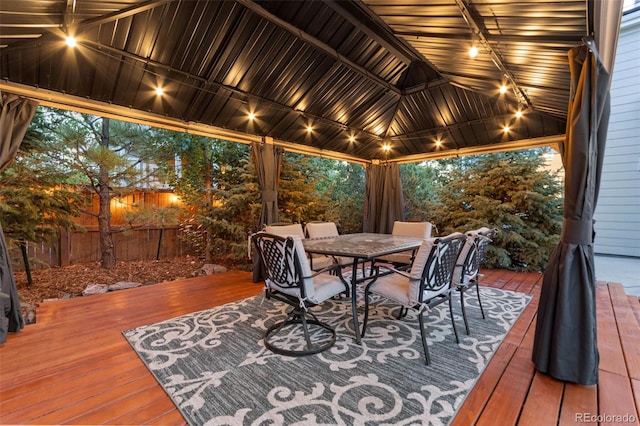
[[[538,371],[598,382],[593,213],[609,122],[609,73],[592,40],[569,51],[571,96],[560,153],[565,168],[560,242],[544,273],[532,360]]]

